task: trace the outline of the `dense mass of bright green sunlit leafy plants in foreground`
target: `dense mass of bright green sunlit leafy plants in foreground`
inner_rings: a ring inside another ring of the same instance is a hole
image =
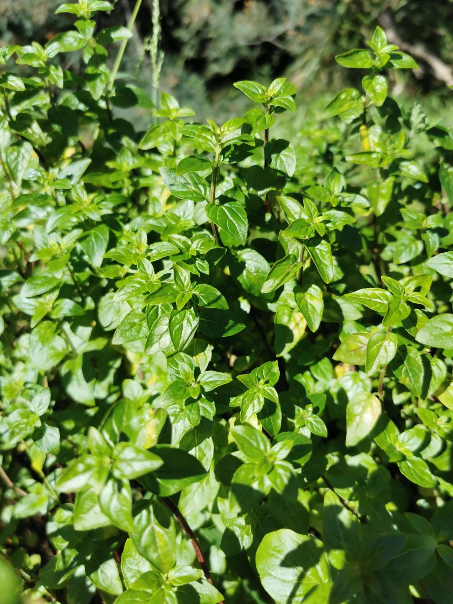
[[[284,78],[221,126],[155,108],[111,8],[0,50],[3,601],[450,602],[453,134],[387,95],[416,62],[376,28],[289,142]]]

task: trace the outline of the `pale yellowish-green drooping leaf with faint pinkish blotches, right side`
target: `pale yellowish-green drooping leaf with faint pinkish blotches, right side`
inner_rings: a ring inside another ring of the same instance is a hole
[[[353,447],[364,439],[381,415],[381,401],[367,392],[356,394],[346,406],[346,446]]]

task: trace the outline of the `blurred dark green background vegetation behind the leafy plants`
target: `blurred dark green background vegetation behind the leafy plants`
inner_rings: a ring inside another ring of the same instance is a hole
[[[74,21],[54,14],[60,0],[0,0],[3,44],[44,44]],[[98,13],[98,30],[126,25],[135,0],[117,0]],[[233,82],[269,82],[286,76],[298,89],[301,127],[306,111],[346,85],[359,85],[360,69],[344,69],[335,54],[362,46],[376,25],[389,42],[414,56],[416,72],[390,74],[390,94],[419,101],[432,120],[451,124],[453,83],[452,0],[161,0],[161,90],[196,111],[199,120],[221,122],[242,115],[250,101]],[[136,77],[150,92],[152,67],[144,40],[152,33],[152,0],[143,0],[120,75]],[[72,58],[70,68],[82,69]],[[115,51],[112,53],[112,61]],[[65,56],[62,55],[63,68]],[[80,57],[80,61],[82,58]],[[305,108],[305,111],[304,111]],[[147,116],[140,116],[146,121]]]

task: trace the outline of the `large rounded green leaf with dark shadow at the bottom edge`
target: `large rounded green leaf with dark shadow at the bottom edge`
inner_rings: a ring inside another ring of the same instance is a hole
[[[313,561],[316,563],[313,565]],[[323,544],[288,528],[262,539],[255,563],[263,587],[275,602],[327,602],[333,583]]]

